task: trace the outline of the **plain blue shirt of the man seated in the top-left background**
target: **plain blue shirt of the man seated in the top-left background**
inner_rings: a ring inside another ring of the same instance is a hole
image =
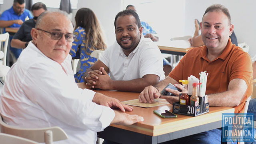
[[[27,9],[24,10],[24,12],[22,14],[20,14],[18,16],[18,14],[16,12],[14,12],[13,6],[4,11],[0,17],[0,20],[22,20],[23,22],[25,21],[25,18],[28,16],[28,18],[33,18],[33,15],[31,14],[31,12]],[[13,24],[11,26],[9,26],[10,28],[19,28],[21,25],[20,24]]]

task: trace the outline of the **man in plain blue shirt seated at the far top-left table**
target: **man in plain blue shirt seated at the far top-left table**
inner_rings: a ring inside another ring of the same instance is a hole
[[[1,28],[19,28],[25,20],[33,18],[31,12],[25,9],[25,0],[14,0],[13,6],[4,11],[0,17],[0,27]],[[4,29],[5,33],[5,29]],[[12,37],[10,37],[10,41]],[[14,54],[15,58],[20,56],[22,49],[12,48],[10,50]]]

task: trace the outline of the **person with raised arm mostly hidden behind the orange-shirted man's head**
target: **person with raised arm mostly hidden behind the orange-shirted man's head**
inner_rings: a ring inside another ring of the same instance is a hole
[[[188,41],[190,42],[191,46],[193,46],[193,47],[203,46],[204,42],[202,40],[201,34],[199,34],[200,22],[197,19],[195,19],[195,27],[196,27],[196,30],[194,32],[194,36],[192,38],[188,39]],[[231,39],[232,44],[235,44],[236,46],[238,46],[236,34],[234,31],[230,35],[230,39]]]

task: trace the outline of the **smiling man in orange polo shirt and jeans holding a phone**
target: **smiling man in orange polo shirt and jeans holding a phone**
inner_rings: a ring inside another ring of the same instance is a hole
[[[199,78],[201,71],[208,72],[206,94],[210,106],[230,106],[235,113],[243,113],[245,100],[252,94],[252,61],[248,53],[232,44],[229,36],[231,24],[228,9],[215,4],[206,9],[202,18],[201,32],[205,46],[193,48],[180,60],[169,76],[156,86],[146,87],[139,96],[140,102],[153,102],[168,83],[178,88],[179,80],[190,75]],[[176,96],[162,96],[170,104],[178,102],[180,92],[166,88]],[[178,143],[220,143],[221,130],[210,130],[186,138],[174,140]]]

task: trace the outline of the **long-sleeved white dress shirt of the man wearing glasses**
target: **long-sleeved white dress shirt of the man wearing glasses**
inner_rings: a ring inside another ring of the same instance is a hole
[[[94,94],[74,82],[70,55],[60,65],[30,42],[6,76],[0,112],[7,124],[22,128],[59,126],[68,140],[56,144],[95,144],[96,132],[115,114],[92,102]]]

